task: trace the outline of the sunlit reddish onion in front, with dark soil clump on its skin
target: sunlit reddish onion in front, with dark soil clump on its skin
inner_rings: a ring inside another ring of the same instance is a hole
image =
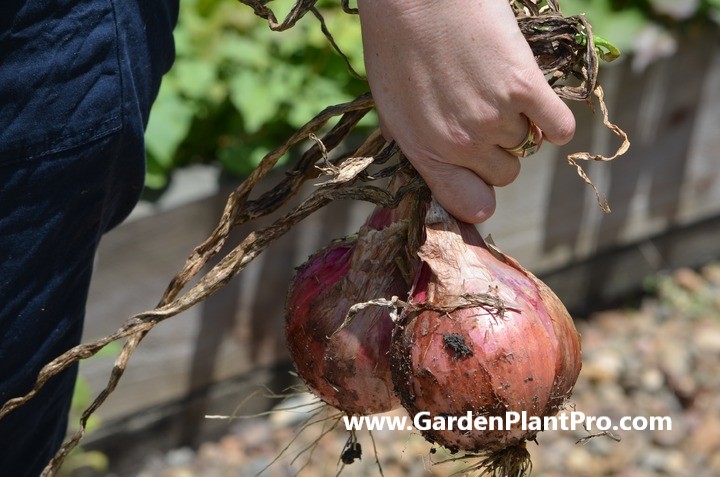
[[[393,381],[411,415],[550,416],[581,368],[580,336],[557,296],[470,224],[433,201],[426,218],[415,310],[396,328]],[[536,431],[428,430],[451,451],[492,452]]]

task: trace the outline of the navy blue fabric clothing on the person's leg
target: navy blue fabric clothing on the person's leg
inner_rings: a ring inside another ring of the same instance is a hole
[[[0,4],[0,404],[79,343],[103,233],[138,200],[178,0]],[[76,369],[0,420],[0,476],[61,444]]]

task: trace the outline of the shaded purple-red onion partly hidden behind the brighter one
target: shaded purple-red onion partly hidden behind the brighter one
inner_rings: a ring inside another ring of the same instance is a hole
[[[390,373],[389,310],[367,307],[339,329],[352,305],[407,296],[409,284],[396,261],[407,235],[407,223],[395,221],[401,213],[376,208],[357,236],[311,256],[288,295],[286,340],[299,376],[316,396],[348,414],[400,405]]]

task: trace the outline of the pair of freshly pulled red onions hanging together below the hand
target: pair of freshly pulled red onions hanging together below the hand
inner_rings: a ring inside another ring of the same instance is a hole
[[[357,236],[333,242],[299,268],[286,337],[300,377],[348,414],[399,404],[411,416],[556,414],[581,367],[580,336],[563,304],[434,200],[424,224],[410,207],[376,208]],[[424,242],[413,252],[415,228]],[[413,279],[403,270],[413,270]],[[353,305],[408,295],[397,321],[374,306],[347,320]],[[423,435],[452,452],[488,456],[482,467],[495,475],[523,475],[525,441],[537,432],[431,428]]]

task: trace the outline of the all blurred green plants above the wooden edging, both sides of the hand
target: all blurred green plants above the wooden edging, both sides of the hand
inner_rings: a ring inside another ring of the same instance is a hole
[[[294,0],[274,0],[281,18]],[[634,52],[646,68],[675,52],[678,35],[720,24],[720,0],[562,0],[566,15],[585,13],[594,31]],[[353,68],[364,74],[358,18],[339,0],[317,7]],[[324,107],[368,90],[307,15],[272,32],[234,0],[183,0],[175,30],[177,60],[163,81],[147,131],[147,187],[161,190],[173,169],[219,164],[242,178],[262,156]],[[374,116],[362,125],[375,127]]]

